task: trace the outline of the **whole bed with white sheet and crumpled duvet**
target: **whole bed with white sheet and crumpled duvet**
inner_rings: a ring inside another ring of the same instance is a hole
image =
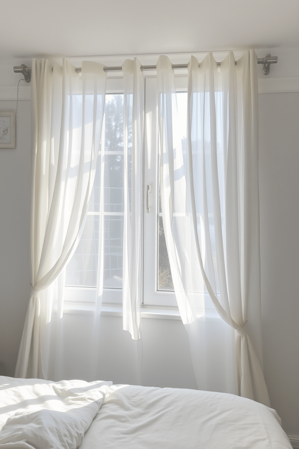
[[[0,376],[0,449],[291,449],[273,409],[179,388]]]

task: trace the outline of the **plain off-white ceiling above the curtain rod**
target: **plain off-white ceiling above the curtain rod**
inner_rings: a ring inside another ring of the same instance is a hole
[[[6,0],[0,57],[299,47],[298,0]]]

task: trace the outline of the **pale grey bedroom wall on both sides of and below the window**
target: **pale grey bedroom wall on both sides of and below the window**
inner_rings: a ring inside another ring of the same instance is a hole
[[[1,64],[0,98],[8,97],[1,87],[17,85],[20,75],[13,74],[12,67],[22,62],[30,65],[20,60]],[[26,98],[26,89],[20,92]],[[16,101],[0,100],[0,110],[15,107]],[[259,113],[264,374],[283,428],[299,436],[299,92],[260,94]],[[17,148],[0,150],[0,374],[13,375],[29,299],[29,197],[30,101],[21,100]],[[74,324],[78,316],[65,319]],[[182,322],[143,318],[142,326],[143,383],[195,388]],[[121,318],[103,316],[101,333],[103,378],[137,383],[131,368],[135,343],[121,330]],[[80,333],[73,337],[79,344]],[[80,364],[70,377],[80,377]]]

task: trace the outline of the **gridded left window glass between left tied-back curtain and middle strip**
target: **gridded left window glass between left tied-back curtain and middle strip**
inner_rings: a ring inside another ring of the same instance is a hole
[[[124,221],[122,94],[106,95],[104,126],[104,287],[122,288]],[[131,173],[131,165],[132,158],[129,156],[129,174]],[[97,283],[100,226],[100,168],[101,158],[98,159],[97,163],[95,182],[88,212],[89,215],[87,216],[82,238],[66,267],[65,285],[95,287]],[[113,215],[108,215],[110,213]]]

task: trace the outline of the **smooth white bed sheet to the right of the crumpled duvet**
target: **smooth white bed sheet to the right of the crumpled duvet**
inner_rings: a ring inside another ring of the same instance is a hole
[[[80,449],[291,449],[273,409],[225,393],[112,385]]]

